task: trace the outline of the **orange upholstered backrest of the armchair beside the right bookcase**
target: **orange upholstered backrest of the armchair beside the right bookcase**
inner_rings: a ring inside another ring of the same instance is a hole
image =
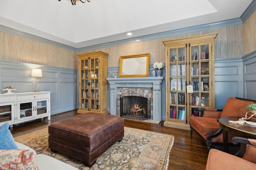
[[[220,117],[238,116],[242,117],[247,111],[247,106],[251,104],[250,101],[239,100],[233,97],[228,98],[225,106],[223,107]]]

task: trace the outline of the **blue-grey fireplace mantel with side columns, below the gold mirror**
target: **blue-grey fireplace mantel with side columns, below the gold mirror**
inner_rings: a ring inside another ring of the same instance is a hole
[[[107,78],[110,84],[110,114],[117,115],[119,87],[153,88],[153,120],[162,121],[162,81],[164,77]]]

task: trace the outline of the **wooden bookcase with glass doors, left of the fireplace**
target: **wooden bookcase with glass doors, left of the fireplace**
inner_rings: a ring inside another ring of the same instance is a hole
[[[78,55],[79,109],[78,113],[108,113],[107,110],[107,58],[98,51]]]

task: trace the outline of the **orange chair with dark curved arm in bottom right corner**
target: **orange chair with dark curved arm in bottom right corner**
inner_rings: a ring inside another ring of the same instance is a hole
[[[256,139],[234,137],[234,144],[240,143],[240,150],[228,154],[211,149],[208,154],[206,170],[250,170],[256,168]]]

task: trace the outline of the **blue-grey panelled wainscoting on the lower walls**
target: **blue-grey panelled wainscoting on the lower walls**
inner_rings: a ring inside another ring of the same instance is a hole
[[[215,59],[215,108],[222,109],[232,97],[256,100],[256,51],[239,58]],[[33,68],[41,68],[43,76],[38,80],[38,90],[51,91],[51,115],[78,109],[78,70],[56,68],[39,64],[0,61],[0,85],[2,89],[13,86],[14,92],[36,90],[36,78],[31,77]],[[150,75],[153,67],[150,64]],[[118,76],[119,67],[108,68]],[[163,69],[165,76],[165,69]],[[162,120],[165,120],[165,81],[162,82]],[[108,101],[110,96],[108,92]],[[110,110],[108,103],[108,110]]]

